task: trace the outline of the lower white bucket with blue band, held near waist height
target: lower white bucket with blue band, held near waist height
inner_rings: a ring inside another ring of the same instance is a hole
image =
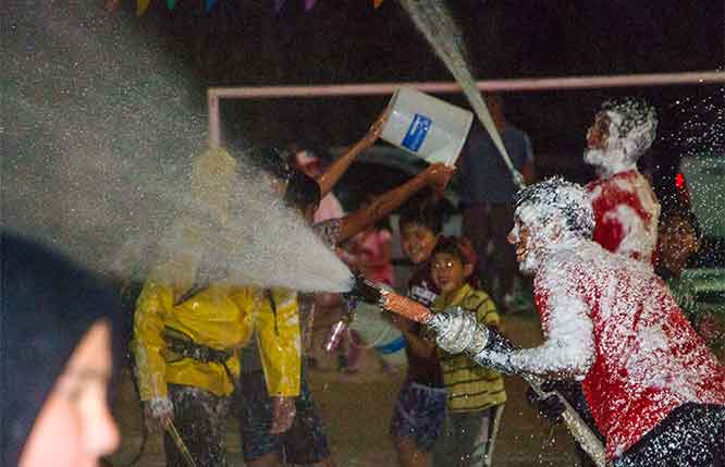
[[[380,315],[377,305],[360,303],[355,309],[355,319],[349,329],[360,334],[365,346],[376,351],[378,357],[391,367],[408,364],[403,333]]]

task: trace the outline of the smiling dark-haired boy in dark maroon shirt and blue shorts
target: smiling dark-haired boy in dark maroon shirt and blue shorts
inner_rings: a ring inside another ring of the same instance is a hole
[[[407,295],[430,307],[438,287],[430,275],[430,257],[442,230],[442,219],[430,191],[421,192],[401,212],[401,246],[413,262]],[[445,389],[432,341],[419,323],[388,316],[405,336],[408,370],[393,409],[391,435],[402,467],[426,467],[445,419]]]

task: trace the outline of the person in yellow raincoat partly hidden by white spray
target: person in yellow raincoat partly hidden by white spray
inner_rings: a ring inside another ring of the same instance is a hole
[[[229,212],[235,164],[223,150],[197,159],[192,192],[208,219],[176,226],[174,241],[163,245],[170,251],[162,254],[137,302],[134,353],[140,397],[148,419],[167,429],[168,466],[185,465],[168,433],[174,429],[196,465],[226,465],[224,419],[239,374],[236,351],[253,333],[275,401],[275,430],[292,423],[299,394],[296,293],[234,283],[226,251],[219,246],[223,242],[213,242]]]

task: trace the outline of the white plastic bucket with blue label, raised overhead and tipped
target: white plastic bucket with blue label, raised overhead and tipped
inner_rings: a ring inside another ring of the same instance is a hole
[[[409,87],[395,91],[386,113],[384,140],[446,165],[455,164],[474,121],[471,112]]]

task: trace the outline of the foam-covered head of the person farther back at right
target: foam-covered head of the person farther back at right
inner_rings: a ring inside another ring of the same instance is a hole
[[[606,101],[587,132],[585,161],[600,175],[634,169],[654,142],[656,112],[642,100]]]

